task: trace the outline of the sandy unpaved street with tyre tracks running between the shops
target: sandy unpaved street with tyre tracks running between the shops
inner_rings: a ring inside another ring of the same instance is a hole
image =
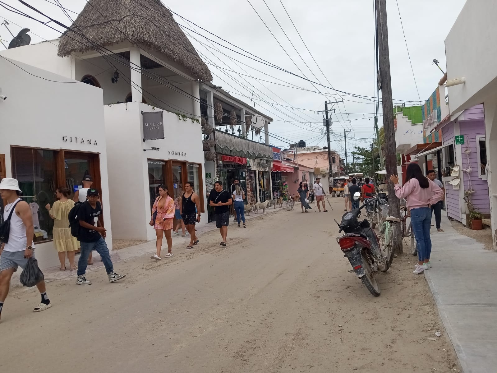
[[[103,268],[87,273],[90,286],[49,282],[53,307],[41,313],[36,289],[13,291],[1,370],[458,372],[414,257],[399,256],[379,276],[381,296],[370,295],[334,239],[343,199],[330,200],[328,213],[297,204],[230,226],[227,247],[212,231],[194,250],[175,245],[171,259],[115,263],[127,274],[119,282]]]

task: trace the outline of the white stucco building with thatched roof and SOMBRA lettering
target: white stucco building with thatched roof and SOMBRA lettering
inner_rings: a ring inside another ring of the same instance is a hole
[[[98,51],[67,30],[56,40],[0,52],[98,92],[97,111],[104,118],[98,134],[108,149],[110,190],[104,216],[111,217],[115,239],[156,237],[148,222],[161,184],[176,197],[187,181],[194,182],[200,212],[207,210],[199,81],[212,76],[166,7],[158,1],[142,5],[134,10],[118,1],[115,7],[104,0],[85,5],[71,28],[83,30]],[[74,109],[64,120],[94,110],[68,99]],[[54,106],[52,115],[59,115]]]

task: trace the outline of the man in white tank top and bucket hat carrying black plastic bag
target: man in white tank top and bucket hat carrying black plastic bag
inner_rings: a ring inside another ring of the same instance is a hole
[[[0,246],[0,317],[3,302],[8,294],[10,278],[18,267],[25,268],[29,258],[34,258],[33,214],[27,202],[19,198],[19,183],[15,179],[4,178],[0,182],[0,198],[7,200],[3,209],[3,220],[10,215],[8,242]],[[44,311],[52,306],[48,299],[45,281],[36,284],[41,294],[41,303],[34,312]]]

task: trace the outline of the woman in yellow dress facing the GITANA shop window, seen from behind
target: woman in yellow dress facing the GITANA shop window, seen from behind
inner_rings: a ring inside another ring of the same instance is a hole
[[[54,219],[54,244],[59,254],[61,271],[66,270],[66,251],[69,259],[69,270],[78,269],[74,264],[74,253],[79,249],[80,245],[76,237],[71,234],[71,228],[69,228],[69,211],[74,206],[74,201],[68,199],[70,194],[71,191],[68,188],[58,187],[55,192],[58,200],[54,202],[52,208],[50,208],[50,203],[46,205],[50,217]]]

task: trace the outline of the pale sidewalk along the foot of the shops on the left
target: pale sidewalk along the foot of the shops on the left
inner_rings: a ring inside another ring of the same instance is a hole
[[[294,210],[297,207],[300,209],[300,204],[296,203]],[[259,212],[257,214],[254,212],[251,212],[250,215],[247,215],[247,214],[245,215],[245,220],[249,221],[250,219],[254,219],[257,217],[267,216],[268,214],[270,215],[273,212],[280,211],[282,209],[283,210],[285,209],[285,204],[283,204],[283,207],[281,207],[281,208],[276,208],[276,209],[274,209],[272,207],[266,208],[265,214],[263,214],[262,212]],[[202,219],[207,219],[207,215],[202,214]],[[237,228],[237,222],[233,221],[233,216],[232,216],[230,218],[230,227],[233,227],[233,226],[235,226],[235,228]],[[249,227],[249,224],[248,224],[248,227]],[[216,223],[214,223],[214,222],[201,225],[197,228],[197,236],[201,240],[202,233],[210,232],[213,230],[217,230]],[[181,233],[181,229],[178,232]],[[184,246],[186,247],[186,245],[188,245],[188,243],[190,242],[190,236],[186,235],[186,237],[181,237],[181,236],[172,235],[173,249],[175,247],[177,247],[178,244],[181,242],[183,242]],[[164,249],[164,247],[165,247],[165,249]],[[164,251],[164,253],[166,253],[166,251],[167,251],[166,240],[164,240],[164,242],[163,242],[163,251]],[[130,259],[137,258],[137,257],[140,257],[140,256],[145,255],[145,254],[152,255],[155,253],[156,253],[156,241],[152,240],[152,241],[140,244],[140,245],[129,246],[129,247],[126,247],[126,248],[123,248],[120,250],[111,251],[110,258],[112,259],[112,263],[115,266],[116,263],[123,261],[123,260],[130,260]],[[56,255],[56,253],[54,253],[54,255]],[[78,259],[79,259],[79,255],[76,256],[76,262],[78,261]],[[94,263],[93,266],[88,266],[86,268],[87,273],[91,273],[93,271],[101,271],[101,267],[103,267],[103,263],[100,262],[100,257],[96,253],[93,254],[93,263]],[[117,270],[118,269],[116,269],[116,271]],[[12,276],[12,279],[10,281],[12,288],[18,289],[21,287],[21,284],[19,282],[20,274],[21,274],[21,271],[19,270],[16,273],[14,273],[14,275]],[[76,277],[76,271],[66,270],[64,272],[61,272],[59,266],[45,269],[45,270],[43,270],[43,274],[45,275],[45,280],[47,282],[53,281],[53,280],[64,280],[64,279]],[[24,289],[27,290],[28,288],[24,288]]]

